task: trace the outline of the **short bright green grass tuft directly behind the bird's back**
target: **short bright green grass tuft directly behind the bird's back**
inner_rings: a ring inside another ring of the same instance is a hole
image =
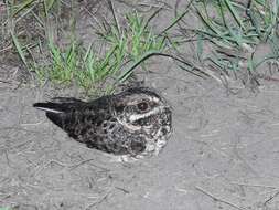
[[[104,56],[97,56],[93,45],[84,49],[78,42],[72,42],[66,49],[61,50],[52,41],[49,44],[50,64],[33,67],[41,84],[50,80],[55,84],[68,86],[76,84],[84,91],[94,91],[99,83],[112,76],[121,65],[117,48],[108,50]]]

